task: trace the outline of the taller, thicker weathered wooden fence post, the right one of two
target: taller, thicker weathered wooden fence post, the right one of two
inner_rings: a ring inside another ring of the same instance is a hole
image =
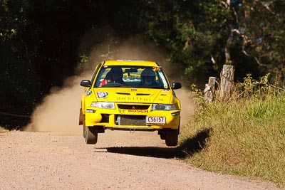
[[[234,83],[234,66],[224,65],[221,72],[221,86],[219,98],[228,99]]]

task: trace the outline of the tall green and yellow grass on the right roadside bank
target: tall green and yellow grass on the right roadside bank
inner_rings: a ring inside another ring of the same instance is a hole
[[[285,186],[285,93],[262,88],[200,106],[182,128],[178,149],[185,161]]]

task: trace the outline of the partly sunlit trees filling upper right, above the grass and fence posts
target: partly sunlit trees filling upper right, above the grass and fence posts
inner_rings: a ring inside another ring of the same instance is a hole
[[[165,46],[193,83],[219,76],[224,63],[235,66],[237,80],[284,65],[283,1],[142,2],[138,28]]]

